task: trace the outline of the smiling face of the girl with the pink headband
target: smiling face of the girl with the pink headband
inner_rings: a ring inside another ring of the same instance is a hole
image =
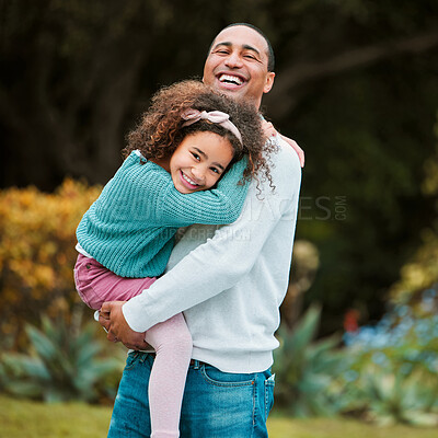
[[[175,188],[184,194],[211,188],[233,158],[230,141],[210,131],[184,137],[170,160]]]

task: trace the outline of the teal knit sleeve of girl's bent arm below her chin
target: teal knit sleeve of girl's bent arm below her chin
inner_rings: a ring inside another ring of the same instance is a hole
[[[217,184],[217,188],[180,193],[173,184],[157,196],[160,223],[168,227],[186,227],[193,223],[223,224],[234,222],[243,208],[249,183],[243,178],[246,158],[234,163]]]

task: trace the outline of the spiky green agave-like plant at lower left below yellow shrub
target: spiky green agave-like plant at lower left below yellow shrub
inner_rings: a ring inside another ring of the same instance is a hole
[[[95,326],[76,332],[64,320],[54,324],[48,318],[42,319],[42,330],[26,325],[30,354],[1,357],[3,391],[46,402],[114,397],[124,361],[117,354],[97,358],[103,346],[93,339]]]

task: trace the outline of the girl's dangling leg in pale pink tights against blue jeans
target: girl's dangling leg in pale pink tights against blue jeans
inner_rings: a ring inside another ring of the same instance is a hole
[[[155,350],[149,381],[151,438],[178,437],[181,404],[192,357],[192,336],[182,313],[146,332]]]

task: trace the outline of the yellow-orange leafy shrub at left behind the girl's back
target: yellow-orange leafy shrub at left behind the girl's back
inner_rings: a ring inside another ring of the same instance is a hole
[[[0,336],[16,347],[25,322],[56,316],[79,301],[76,228],[101,187],[66,180],[53,194],[0,192]]]

